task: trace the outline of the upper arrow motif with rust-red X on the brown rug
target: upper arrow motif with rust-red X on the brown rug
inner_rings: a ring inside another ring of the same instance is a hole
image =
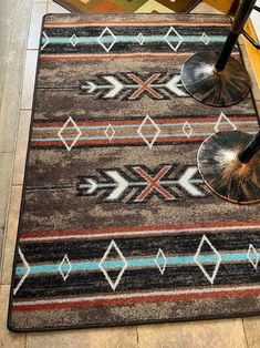
[[[158,82],[157,80],[162,78],[160,75],[160,73],[154,73],[144,78],[135,73],[127,73],[123,75],[122,80],[127,80],[128,83],[121,81],[118,76],[103,75],[102,79],[105,80],[105,83],[97,84],[93,81],[80,81],[80,89],[83,94],[96,93],[101,99],[115,99],[125,91],[126,93],[128,91],[128,93],[124,100],[132,101],[139,100],[144,95],[155,100],[169,99],[171,94],[179,98],[187,96],[180,82],[180,75],[164,76],[164,80],[167,80]]]

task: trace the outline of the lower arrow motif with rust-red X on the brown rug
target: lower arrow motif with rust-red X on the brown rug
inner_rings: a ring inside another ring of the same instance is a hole
[[[129,174],[126,174],[126,171]],[[149,171],[139,165],[126,166],[125,171],[114,168],[98,172],[106,181],[77,177],[77,195],[98,195],[98,202],[118,202],[127,196],[127,203],[148,202],[154,195],[168,202],[175,202],[183,196],[206,195],[196,166],[160,165],[156,171]]]

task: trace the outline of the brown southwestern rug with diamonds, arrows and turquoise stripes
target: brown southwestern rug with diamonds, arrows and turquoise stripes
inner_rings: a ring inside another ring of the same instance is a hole
[[[218,16],[45,17],[11,330],[260,313],[259,205],[212,195],[196,161],[214,132],[258,130],[253,101],[205,106],[180,82],[185,60],[221,49],[229,25]]]

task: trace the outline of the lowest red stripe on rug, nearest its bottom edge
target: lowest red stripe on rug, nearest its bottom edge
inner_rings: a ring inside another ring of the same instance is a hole
[[[171,300],[189,300],[189,299],[201,299],[201,298],[219,298],[219,297],[242,297],[252,296],[260,294],[260,289],[250,290],[235,290],[235,291],[216,291],[216,293],[194,293],[194,294],[179,294],[179,295],[155,295],[147,297],[131,297],[131,298],[115,298],[115,299],[97,299],[93,301],[67,301],[67,303],[54,303],[54,304],[35,304],[35,305],[13,305],[15,311],[30,311],[30,310],[45,310],[45,309],[65,309],[75,307],[102,307],[107,305],[133,305],[139,303],[152,303],[152,301],[171,301]]]

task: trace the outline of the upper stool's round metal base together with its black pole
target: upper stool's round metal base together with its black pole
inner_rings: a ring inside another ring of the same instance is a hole
[[[230,32],[220,52],[202,50],[191,55],[181,69],[181,82],[196,100],[222,108],[243,100],[250,90],[250,78],[241,60],[231,57],[257,0],[240,0]]]

